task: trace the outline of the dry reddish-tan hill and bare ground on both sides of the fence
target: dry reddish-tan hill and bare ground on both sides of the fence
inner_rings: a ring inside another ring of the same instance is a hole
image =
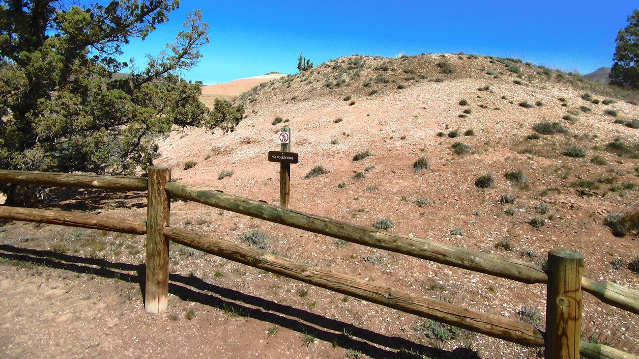
[[[268,162],[266,153],[279,149],[275,134],[286,124],[292,129],[291,150],[300,156],[300,163],[291,166],[295,210],[361,225],[387,218],[396,233],[541,266],[551,248],[571,248],[584,254],[586,277],[639,290],[639,276],[627,267],[639,254],[636,233],[615,237],[606,225],[611,214],[637,210],[637,98],[636,93],[516,59],[350,56],[270,80],[243,94],[236,101],[247,107],[247,118],[231,134],[208,134],[200,128],[173,132],[160,142],[155,164],[171,166],[173,178],[191,185],[277,204],[279,165]],[[539,134],[552,131],[558,133]],[[581,151],[583,157],[566,155],[580,156]],[[362,153],[369,156],[353,160]],[[427,159],[429,168],[417,172],[414,164],[420,157]],[[197,164],[185,170],[189,160]],[[318,165],[327,173],[306,178]],[[224,170],[233,171],[232,176],[218,179]],[[507,172],[513,173],[506,176]],[[475,181],[485,174],[492,175],[493,185],[477,187]],[[130,207],[101,211],[137,217],[146,213],[143,207]],[[171,216],[171,225],[244,245],[240,236],[245,231],[261,231],[269,239],[268,250],[276,254],[470,309],[543,323],[543,285],[457,270],[190,202],[174,202]],[[41,228],[19,224],[6,227],[31,238],[20,241],[0,233],[11,245],[98,256],[112,263],[137,264],[144,257],[143,251],[135,250],[142,248],[143,238],[103,237],[90,231],[77,242],[86,245],[59,240],[52,248],[50,238],[65,233],[43,235]],[[111,242],[122,245],[106,244]],[[38,346],[32,344],[51,342],[75,343],[58,346],[60,356],[109,356],[118,343],[126,343],[130,356],[143,356],[150,348],[157,356],[220,353],[259,358],[537,354],[536,348],[438,327],[190,248],[174,246],[171,253],[171,280],[183,280],[180,287],[195,287],[194,293],[172,292],[176,295],[170,298],[166,317],[140,313],[139,288],[134,284],[104,279],[99,273],[91,284],[84,277],[59,279],[65,271],[47,268],[38,274],[40,267],[3,264],[10,270],[5,270],[0,289],[11,295],[0,297],[6,298],[0,304],[11,308],[3,327],[11,331],[0,339],[13,333],[17,339],[6,350],[18,353],[14,356],[33,356],[29,348]],[[70,293],[42,294],[50,307],[12,307],[13,296],[39,288],[38,275],[51,281],[47,285],[63,286],[56,290]],[[16,281],[19,289],[11,285]],[[119,287],[100,289],[111,286]],[[86,291],[89,298],[100,296],[102,303],[117,301],[118,310],[86,315],[65,311],[69,302],[84,303]],[[63,304],[56,298],[70,299]],[[639,353],[636,316],[589,294],[584,294],[584,301],[585,339]],[[47,308],[62,312],[61,324],[56,316],[38,314]],[[195,320],[184,318],[189,309]],[[18,319],[27,313],[38,320]],[[53,324],[75,325],[76,330],[50,330],[55,333],[48,338],[39,334],[41,328],[57,328]],[[29,340],[29,333],[44,337]],[[132,342],[131,336],[139,341]],[[99,338],[105,344],[95,346]]]

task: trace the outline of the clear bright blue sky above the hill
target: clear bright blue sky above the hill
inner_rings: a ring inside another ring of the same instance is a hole
[[[460,51],[518,57],[586,74],[612,66],[615,37],[639,2],[612,1],[194,1],[123,59],[157,54],[199,8],[210,25],[202,59],[181,75],[215,84],[296,73],[300,51],[315,65],[353,54],[417,55]]]

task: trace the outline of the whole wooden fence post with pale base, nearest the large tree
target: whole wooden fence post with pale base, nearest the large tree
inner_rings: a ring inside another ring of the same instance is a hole
[[[169,167],[149,167],[144,291],[144,310],[147,313],[162,313],[169,306],[169,240],[162,231],[169,225],[171,204],[164,187],[170,180]]]

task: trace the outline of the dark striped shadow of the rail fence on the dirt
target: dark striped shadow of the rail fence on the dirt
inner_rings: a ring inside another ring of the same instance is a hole
[[[49,250],[27,249],[11,245],[0,245],[0,258],[137,283],[142,295],[144,294],[144,264],[112,263],[104,259],[70,256]],[[422,356],[438,359],[480,358],[471,349],[457,348],[454,351],[447,351],[425,346],[258,296],[216,286],[197,277],[170,274],[169,293],[178,296],[181,300],[215,307],[231,315],[249,317],[282,326],[300,334],[312,335],[316,339],[330,342],[344,349],[358,351],[371,358],[422,358]]]

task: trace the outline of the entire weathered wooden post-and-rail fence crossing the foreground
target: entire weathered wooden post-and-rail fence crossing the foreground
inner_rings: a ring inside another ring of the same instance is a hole
[[[94,176],[49,172],[0,170],[0,182],[58,187],[102,188],[148,192],[147,218],[129,220],[56,210],[0,206],[0,218],[45,224],[69,225],[130,234],[146,234],[146,293],[149,313],[167,310],[169,290],[168,240],[231,261],[300,280],[368,302],[433,319],[473,332],[528,347],[544,347],[546,358],[638,358],[603,344],[581,341],[582,291],[601,302],[639,314],[639,291],[613,282],[583,277],[583,255],[566,249],[548,254],[548,270],[532,263],[493,254],[452,247],[435,241],[390,233],[341,220],[291,210],[215,190],[171,181],[171,169],[151,166],[147,178]],[[459,305],[427,298],[366,280],[343,275],[198,234],[169,225],[170,197],[195,201],[222,210],[268,220],[277,224],[324,234],[360,245],[381,248],[457,268],[495,275],[527,284],[545,283],[546,326],[487,314]]]

